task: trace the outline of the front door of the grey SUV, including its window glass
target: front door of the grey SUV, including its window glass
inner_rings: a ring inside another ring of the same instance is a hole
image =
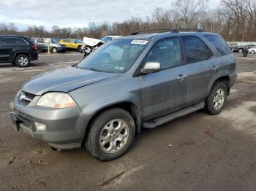
[[[143,120],[177,109],[186,101],[187,71],[181,62],[178,38],[162,39],[151,48],[143,63],[158,62],[161,70],[140,76]]]

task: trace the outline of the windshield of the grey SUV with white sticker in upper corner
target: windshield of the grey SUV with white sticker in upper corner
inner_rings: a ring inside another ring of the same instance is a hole
[[[138,39],[107,42],[78,63],[78,67],[94,71],[124,73],[132,67],[147,43],[147,40]]]

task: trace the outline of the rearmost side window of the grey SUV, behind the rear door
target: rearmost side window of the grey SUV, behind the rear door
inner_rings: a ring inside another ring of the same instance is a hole
[[[222,55],[229,55],[231,53],[230,47],[228,47],[227,43],[221,36],[218,35],[205,35],[206,39],[208,39],[214,47],[217,48],[219,53]]]

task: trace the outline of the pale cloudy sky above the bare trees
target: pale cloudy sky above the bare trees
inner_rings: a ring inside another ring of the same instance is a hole
[[[130,17],[150,16],[154,9],[167,9],[175,0],[0,0],[0,23],[15,23],[20,30],[27,26],[53,25],[86,27],[88,23],[108,23]],[[214,9],[220,0],[210,0]]]

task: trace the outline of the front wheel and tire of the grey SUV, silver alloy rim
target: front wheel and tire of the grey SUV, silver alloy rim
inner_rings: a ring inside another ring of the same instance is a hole
[[[123,128],[118,130],[116,125]],[[124,109],[116,108],[102,112],[89,128],[86,149],[99,160],[108,161],[124,155],[135,138],[135,121]],[[116,143],[116,147],[113,143]]]

